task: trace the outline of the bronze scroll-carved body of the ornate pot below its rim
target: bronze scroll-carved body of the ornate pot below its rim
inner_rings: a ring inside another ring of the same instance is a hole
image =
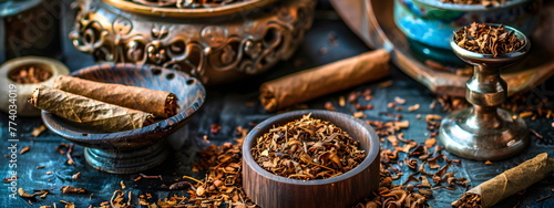
[[[153,20],[114,11],[101,0],[80,0],[79,7],[70,38],[80,51],[99,61],[161,65],[189,72],[204,83],[219,83],[260,73],[290,58],[311,25],[315,2],[286,0],[255,11],[252,17],[257,18],[202,21]]]

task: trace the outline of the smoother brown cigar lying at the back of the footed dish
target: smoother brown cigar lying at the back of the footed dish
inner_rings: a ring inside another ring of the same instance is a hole
[[[154,114],[156,117],[171,117],[177,114],[175,94],[138,86],[111,84],[60,75],[52,87],[73,94]]]

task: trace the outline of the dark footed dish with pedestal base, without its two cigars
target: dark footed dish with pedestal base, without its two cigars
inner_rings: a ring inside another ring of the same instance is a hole
[[[152,65],[110,63],[85,67],[71,75],[167,91],[178,97],[177,115],[142,128],[116,133],[99,132],[42,111],[42,119],[49,129],[72,143],[90,147],[85,148],[89,164],[110,173],[134,173],[162,163],[166,155],[161,144],[163,138],[183,126],[206,97],[198,80],[181,71]]]

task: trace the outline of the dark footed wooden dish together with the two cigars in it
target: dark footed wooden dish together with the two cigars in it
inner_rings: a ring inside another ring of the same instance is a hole
[[[29,102],[48,128],[85,146],[94,168],[136,173],[167,156],[164,138],[186,124],[206,92],[191,75],[153,65],[101,64],[59,76]]]

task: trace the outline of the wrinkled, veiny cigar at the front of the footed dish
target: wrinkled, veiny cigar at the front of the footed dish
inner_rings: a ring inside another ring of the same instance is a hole
[[[153,123],[151,113],[131,110],[48,86],[34,90],[29,103],[69,121],[104,132],[141,128]]]

